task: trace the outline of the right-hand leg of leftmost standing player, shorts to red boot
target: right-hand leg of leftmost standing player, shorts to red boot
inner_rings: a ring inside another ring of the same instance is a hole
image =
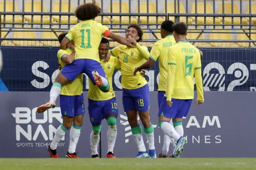
[[[85,113],[83,93],[80,96],[76,96],[76,105],[74,110],[74,121],[70,129],[70,141],[69,141],[69,150],[66,154],[67,158],[78,158],[76,153],[76,144],[80,137],[80,131],[83,125],[83,115]]]

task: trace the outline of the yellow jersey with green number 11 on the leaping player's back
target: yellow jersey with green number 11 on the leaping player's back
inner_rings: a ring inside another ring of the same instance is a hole
[[[84,58],[100,62],[98,48],[102,35],[108,37],[107,30],[108,27],[94,20],[81,21],[72,27],[66,38],[75,42],[75,59]]]

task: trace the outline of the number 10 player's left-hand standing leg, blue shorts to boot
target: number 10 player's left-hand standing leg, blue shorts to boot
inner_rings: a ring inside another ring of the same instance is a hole
[[[92,124],[90,135],[91,157],[98,158],[98,144],[100,142],[100,130],[102,117],[102,101],[88,99],[88,112]]]

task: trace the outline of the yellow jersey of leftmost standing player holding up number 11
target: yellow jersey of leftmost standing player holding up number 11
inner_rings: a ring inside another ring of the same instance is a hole
[[[61,68],[63,68],[66,63],[61,60],[63,55],[70,55],[73,52],[71,48],[67,48],[66,50],[60,49],[57,53],[57,57],[59,60],[59,64]],[[78,75],[76,79],[72,82],[70,81],[68,84],[62,86],[61,95],[66,96],[75,96],[81,95],[83,93],[83,74]]]

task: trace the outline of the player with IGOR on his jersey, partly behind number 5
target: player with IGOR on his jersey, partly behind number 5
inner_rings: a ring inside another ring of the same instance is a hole
[[[168,49],[176,44],[176,41],[173,37],[173,22],[170,20],[166,20],[161,24],[161,40],[158,40],[150,51],[150,56],[147,62],[142,64],[141,66],[135,68],[134,75],[141,71],[141,69],[148,69],[154,65],[156,60],[159,60],[159,68],[160,68],[160,76],[158,83],[158,108],[163,100],[163,96],[165,94],[165,90],[167,88],[167,61],[168,61]],[[170,121],[173,124],[173,121]],[[174,122],[175,124],[175,122]],[[163,137],[163,148],[158,157],[168,157],[169,145],[172,141],[172,152],[176,147],[174,143],[174,139],[170,138],[168,135],[164,135]]]

